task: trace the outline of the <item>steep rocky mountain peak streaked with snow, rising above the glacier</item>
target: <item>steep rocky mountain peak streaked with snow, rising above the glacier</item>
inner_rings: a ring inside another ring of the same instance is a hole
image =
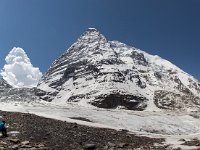
[[[191,75],[159,56],[108,41],[94,28],[53,62],[36,93],[46,101],[100,108],[200,108],[200,84]]]

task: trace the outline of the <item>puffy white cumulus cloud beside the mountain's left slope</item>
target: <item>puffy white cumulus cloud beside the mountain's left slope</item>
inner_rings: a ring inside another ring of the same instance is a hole
[[[22,48],[14,47],[5,58],[1,75],[10,85],[17,88],[35,87],[42,77],[39,68],[33,67]]]

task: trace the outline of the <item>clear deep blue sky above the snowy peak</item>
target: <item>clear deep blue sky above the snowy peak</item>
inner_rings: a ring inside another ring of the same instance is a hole
[[[0,68],[22,47],[44,73],[89,27],[200,80],[200,0],[0,0]]]

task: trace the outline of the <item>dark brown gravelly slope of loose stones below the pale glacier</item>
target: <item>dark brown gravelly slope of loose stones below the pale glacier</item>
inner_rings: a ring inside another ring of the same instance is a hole
[[[0,150],[166,149],[155,146],[164,139],[139,137],[125,130],[88,127],[33,114],[0,111],[0,115],[9,126],[9,136],[0,138]]]

